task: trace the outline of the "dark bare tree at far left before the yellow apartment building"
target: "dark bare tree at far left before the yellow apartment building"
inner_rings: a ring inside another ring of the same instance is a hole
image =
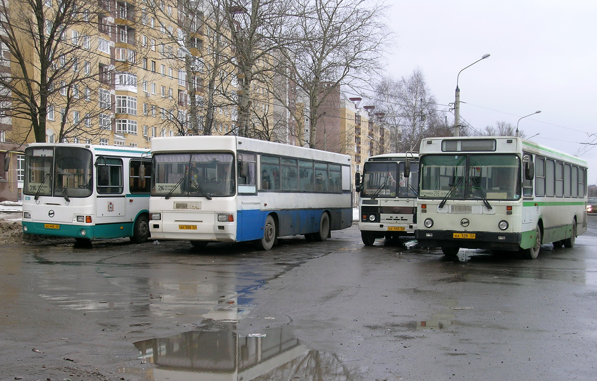
[[[105,133],[91,122],[101,112],[97,97],[91,100],[101,75],[100,57],[91,51],[97,4],[0,0],[0,41],[7,50],[3,58],[11,63],[10,72],[0,76],[0,87],[5,88],[3,104],[10,104],[15,142],[25,142],[31,133],[36,142],[45,142],[48,121],[56,116],[59,141]]]

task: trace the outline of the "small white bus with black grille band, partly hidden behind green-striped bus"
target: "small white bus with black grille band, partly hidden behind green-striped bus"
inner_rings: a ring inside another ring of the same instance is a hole
[[[418,153],[371,156],[355,174],[359,230],[367,246],[376,238],[396,239],[417,229]]]

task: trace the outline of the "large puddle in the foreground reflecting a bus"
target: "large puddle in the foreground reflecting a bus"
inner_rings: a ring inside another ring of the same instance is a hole
[[[334,354],[307,348],[283,325],[242,336],[236,322],[134,343],[153,380],[365,380]]]

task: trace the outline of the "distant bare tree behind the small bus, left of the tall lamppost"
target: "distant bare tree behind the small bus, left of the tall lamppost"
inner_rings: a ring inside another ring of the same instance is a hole
[[[446,136],[449,131],[423,73],[416,69],[408,78],[382,78],[375,87],[376,112],[384,113],[394,152],[418,150],[427,136]]]

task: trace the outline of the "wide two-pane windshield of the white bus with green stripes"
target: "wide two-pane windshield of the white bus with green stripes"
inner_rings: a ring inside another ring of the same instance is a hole
[[[516,155],[426,155],[420,160],[420,198],[521,197],[521,167]]]

